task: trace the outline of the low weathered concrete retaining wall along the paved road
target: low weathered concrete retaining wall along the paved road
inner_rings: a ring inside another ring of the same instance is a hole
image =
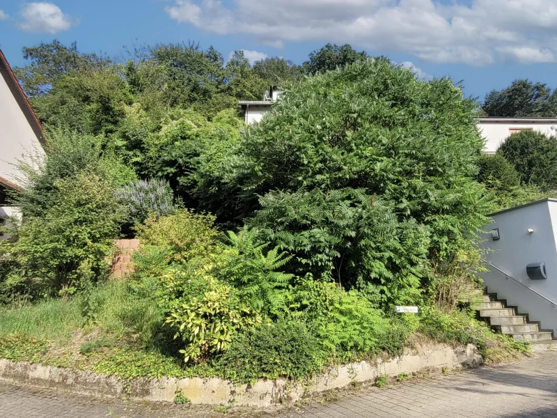
[[[198,404],[230,404],[265,408],[278,403],[291,403],[305,396],[329,389],[338,389],[352,382],[375,380],[377,376],[398,376],[400,373],[433,371],[463,364],[483,363],[472,345],[450,347],[446,344],[427,345],[387,361],[357,362],[331,367],[308,382],[286,379],[260,379],[254,385],[234,385],[221,378],[134,379],[129,382],[114,376],[90,371],[63,369],[28,362],[0,359],[0,380],[26,385],[51,387],[88,396],[172,402],[178,389]]]

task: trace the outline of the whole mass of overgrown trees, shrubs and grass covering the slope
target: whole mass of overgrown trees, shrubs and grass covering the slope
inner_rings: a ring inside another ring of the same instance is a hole
[[[493,360],[526,350],[473,319],[470,289],[486,215],[540,192],[482,156],[450,79],[350,45],[303,67],[194,44],[125,64],[58,42],[26,54],[49,146],[22,164],[23,219],[0,245],[0,357],[253,382],[400,355],[416,333]],[[245,127],[235,100],[277,82]],[[141,241],[134,273],[107,281],[123,235]]]

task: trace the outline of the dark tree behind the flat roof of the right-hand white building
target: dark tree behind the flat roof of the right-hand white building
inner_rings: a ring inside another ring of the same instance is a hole
[[[528,79],[515,80],[501,91],[485,96],[483,110],[487,116],[509,118],[557,116],[557,91]]]

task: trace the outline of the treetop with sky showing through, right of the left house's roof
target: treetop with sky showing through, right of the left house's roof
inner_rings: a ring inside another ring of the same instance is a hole
[[[47,93],[58,79],[70,72],[100,70],[112,64],[106,56],[81,54],[77,42],[67,47],[56,39],[40,42],[38,47],[24,47],[23,57],[31,62],[14,71],[29,97]]]

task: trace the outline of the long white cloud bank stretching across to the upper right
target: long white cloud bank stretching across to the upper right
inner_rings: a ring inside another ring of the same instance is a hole
[[[267,45],[350,43],[435,63],[557,60],[555,0],[174,0],[176,22]]]

